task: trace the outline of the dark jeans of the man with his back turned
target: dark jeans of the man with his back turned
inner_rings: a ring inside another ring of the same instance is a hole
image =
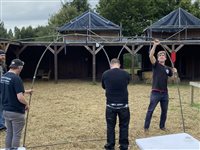
[[[119,117],[119,144],[121,150],[127,150],[128,141],[128,129],[130,122],[129,107],[121,109],[113,109],[106,107],[106,122],[107,122],[107,144],[105,149],[112,150],[115,147],[115,126]]]

